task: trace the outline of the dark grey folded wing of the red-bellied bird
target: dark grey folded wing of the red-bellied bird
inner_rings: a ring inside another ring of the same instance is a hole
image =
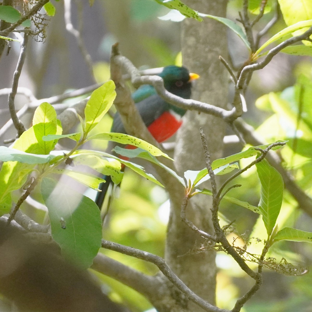
[[[137,103],[136,108],[138,109],[146,127],[148,127],[155,119],[169,109],[169,105],[158,94],[155,94]],[[111,132],[126,133],[119,113],[116,113],[115,115]]]

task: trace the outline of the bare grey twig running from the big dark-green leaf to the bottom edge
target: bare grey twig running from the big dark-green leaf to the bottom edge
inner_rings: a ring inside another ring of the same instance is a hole
[[[154,263],[159,270],[168,278],[168,280],[171,281],[173,285],[175,285],[183,294],[186,295],[186,297],[191,300],[192,302],[199,305],[202,309],[205,311],[210,312],[226,312],[227,310],[219,309],[218,307],[215,307],[214,305],[211,305],[210,303],[206,302],[205,300],[201,299],[199,296],[197,296],[194,292],[192,292],[169,268],[169,266],[166,264],[166,261],[156,255],[153,255],[149,252],[138,250],[132,247],[120,245],[113,243],[111,241],[106,241],[102,239],[102,247],[110,250],[114,250],[117,252],[120,252],[124,255],[132,256],[144,261],[148,261],[151,263]]]

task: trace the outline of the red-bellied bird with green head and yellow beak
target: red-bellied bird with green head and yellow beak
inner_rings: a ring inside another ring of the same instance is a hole
[[[190,73],[186,67],[175,65],[164,67],[158,76],[163,79],[167,91],[184,99],[191,98],[191,81],[199,78],[199,75]],[[180,128],[186,110],[167,103],[153,86],[142,85],[132,94],[132,99],[147,129],[158,143],[169,139]],[[114,116],[111,132],[126,133],[118,112]],[[100,209],[109,184],[112,183],[110,176],[104,179],[106,182],[99,185],[102,192],[98,192],[95,199]]]

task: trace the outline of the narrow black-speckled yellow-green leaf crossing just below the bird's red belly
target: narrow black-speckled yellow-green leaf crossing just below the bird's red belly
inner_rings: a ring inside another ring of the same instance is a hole
[[[87,140],[93,140],[93,139],[99,139],[99,140],[109,140],[121,144],[129,144],[136,147],[140,147],[141,149],[144,149],[148,151],[153,156],[164,156],[166,158],[170,158],[167,154],[162,152],[160,149],[155,147],[154,145],[147,143],[144,140],[138,139],[132,135],[124,134],[124,133],[114,133],[114,132],[106,132],[106,133],[99,133],[92,135]],[[173,159],[172,159],[173,160]]]

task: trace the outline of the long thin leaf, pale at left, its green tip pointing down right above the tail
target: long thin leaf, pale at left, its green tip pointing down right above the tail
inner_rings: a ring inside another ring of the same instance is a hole
[[[142,166],[139,166],[135,163],[131,163],[130,161],[127,161],[124,159],[119,159],[118,157],[113,156],[113,155],[108,154],[108,153],[105,153],[105,152],[93,151],[93,150],[87,150],[87,149],[78,150],[72,154],[72,158],[74,159],[75,157],[83,155],[83,154],[93,154],[93,155],[97,155],[100,157],[112,158],[112,159],[118,160],[119,162],[123,163],[126,167],[132,169],[134,172],[140,174],[142,177],[146,178],[147,180],[150,180],[150,181],[164,187],[160,182],[158,182],[156,180],[156,178],[152,174],[146,173],[145,169]]]

